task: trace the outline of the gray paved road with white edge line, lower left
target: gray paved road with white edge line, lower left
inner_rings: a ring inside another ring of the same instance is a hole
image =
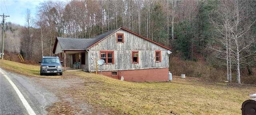
[[[45,109],[56,101],[34,78],[0,69],[0,115],[46,115]]]

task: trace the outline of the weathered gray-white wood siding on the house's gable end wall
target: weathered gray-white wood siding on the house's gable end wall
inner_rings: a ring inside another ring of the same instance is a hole
[[[124,34],[124,43],[116,42],[116,34]],[[149,42],[125,30],[118,30],[89,49],[89,71],[96,71],[96,58],[100,51],[114,51],[114,64],[102,65],[102,71],[167,68],[169,57],[167,49]],[[132,63],[132,51],[139,52],[139,63]],[[161,51],[161,62],[155,62],[155,51]],[[98,67],[100,70],[100,66]]]

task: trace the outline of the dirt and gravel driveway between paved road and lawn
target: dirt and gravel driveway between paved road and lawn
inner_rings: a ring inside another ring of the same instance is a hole
[[[115,115],[112,110],[88,104],[82,94],[74,93],[78,90],[86,92],[84,88],[86,78],[84,77],[65,72],[61,76],[43,76],[34,77],[34,79],[59,99],[46,109],[48,115]]]

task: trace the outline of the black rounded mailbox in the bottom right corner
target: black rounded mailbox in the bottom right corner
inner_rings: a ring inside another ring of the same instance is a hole
[[[241,110],[242,115],[256,115],[256,98],[244,101]]]

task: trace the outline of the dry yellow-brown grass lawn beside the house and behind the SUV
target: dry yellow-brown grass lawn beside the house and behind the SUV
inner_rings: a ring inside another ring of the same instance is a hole
[[[6,60],[0,63],[11,71],[31,66]],[[22,73],[37,76],[38,68],[33,66]],[[108,109],[118,115],[241,115],[243,101],[256,93],[254,85],[187,76],[173,76],[169,82],[128,82],[83,71],[67,74],[84,81],[84,85],[69,91],[74,99],[89,103],[98,111]]]

